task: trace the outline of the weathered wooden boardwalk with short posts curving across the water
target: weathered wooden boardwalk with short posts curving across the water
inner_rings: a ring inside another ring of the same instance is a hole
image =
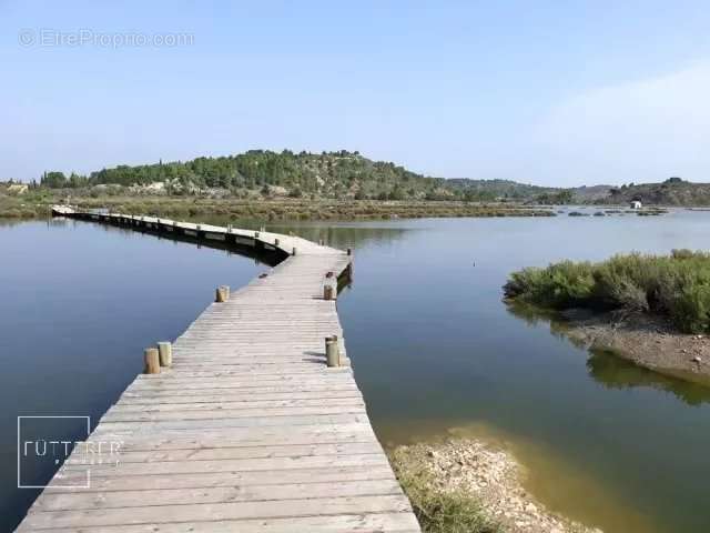
[[[87,442],[122,441],[118,462],[90,465],[88,489],[61,489],[85,479],[90,461],[75,449],[18,531],[419,531],[349,361],[325,364],[326,336],[345,345],[324,281],[351,255],[291,235],[58,214],[285,259],[211,304],[173,343],[172,368],[139,375],[104,414]]]

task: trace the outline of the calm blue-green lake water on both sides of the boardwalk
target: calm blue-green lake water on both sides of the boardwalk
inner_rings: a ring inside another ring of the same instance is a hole
[[[242,221],[250,224],[258,222]],[[500,301],[507,274],[521,266],[706,248],[710,213],[268,229],[355,249],[354,283],[338,310],[384,443],[489,439],[524,463],[537,497],[587,524],[710,531],[710,389],[588,353]],[[267,266],[67,221],[0,223],[0,529],[8,530],[37,494],[16,487],[17,416],[98,420],[141,371],[144,346],[178,336],[215,285],[242,285]]]

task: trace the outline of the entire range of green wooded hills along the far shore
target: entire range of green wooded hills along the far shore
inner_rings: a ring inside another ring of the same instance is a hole
[[[1,183],[0,183],[1,184]],[[119,165],[88,175],[44,172],[31,189],[83,197],[168,195],[236,199],[514,202],[539,205],[710,205],[710,184],[670,178],[663,183],[539,187],[510,180],[430,178],[359,152],[245,153],[191,161]],[[78,192],[81,191],[81,192]]]

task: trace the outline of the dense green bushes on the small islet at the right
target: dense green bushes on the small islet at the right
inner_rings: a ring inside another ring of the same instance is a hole
[[[631,253],[600,263],[562,261],[510,274],[505,296],[542,308],[651,312],[682,332],[710,332],[710,254]]]

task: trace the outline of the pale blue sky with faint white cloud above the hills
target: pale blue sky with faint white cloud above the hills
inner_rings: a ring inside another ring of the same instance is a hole
[[[0,179],[290,148],[710,181],[709,28],[707,1],[0,0]],[[80,30],[193,42],[47,46]]]

